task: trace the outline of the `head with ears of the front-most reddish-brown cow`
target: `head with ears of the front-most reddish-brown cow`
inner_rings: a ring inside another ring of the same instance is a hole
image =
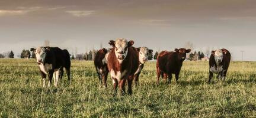
[[[117,60],[121,63],[126,58],[128,47],[131,47],[134,42],[132,40],[127,41],[124,38],[118,38],[116,41],[111,40],[108,44],[113,47]]]

